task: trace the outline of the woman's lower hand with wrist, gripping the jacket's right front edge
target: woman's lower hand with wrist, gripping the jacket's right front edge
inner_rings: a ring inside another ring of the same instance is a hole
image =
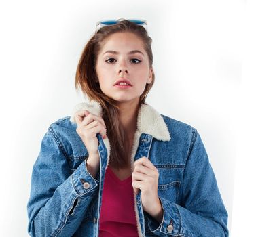
[[[158,169],[151,161],[143,156],[134,162],[132,186],[136,194],[141,190],[143,210],[149,215],[159,215],[162,205],[158,198]]]

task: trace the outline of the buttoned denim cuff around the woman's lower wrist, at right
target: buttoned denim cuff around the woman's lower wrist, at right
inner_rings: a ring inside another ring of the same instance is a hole
[[[147,215],[149,230],[157,235],[169,234],[170,236],[177,236],[181,230],[181,215],[177,204],[160,198],[163,208],[163,219],[159,224],[153,217]]]

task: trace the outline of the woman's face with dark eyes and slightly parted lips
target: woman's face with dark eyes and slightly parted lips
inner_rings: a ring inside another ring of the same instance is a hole
[[[114,33],[100,49],[96,62],[100,89],[118,102],[139,102],[146,83],[151,83],[153,69],[143,41],[133,33]],[[131,86],[115,85],[127,79]]]

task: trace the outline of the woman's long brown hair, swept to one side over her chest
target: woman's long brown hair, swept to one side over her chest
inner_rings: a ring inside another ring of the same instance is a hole
[[[96,74],[96,60],[98,53],[102,47],[103,41],[114,33],[134,33],[143,41],[143,46],[149,58],[149,68],[153,64],[153,54],[151,49],[152,39],[147,35],[147,31],[143,26],[139,26],[129,20],[122,20],[117,24],[104,26],[95,33],[81,53],[77,71],[75,75],[75,88],[79,89],[87,95],[90,100],[96,100],[103,107],[103,119],[107,127],[107,137],[111,144],[111,154],[109,164],[119,169],[127,167],[130,163],[130,153],[127,146],[128,141],[124,128],[119,121],[119,112],[116,101],[109,98],[100,89],[100,85],[96,83],[98,77]],[[150,84],[146,84],[145,90],[140,96],[139,107],[145,104],[147,93],[153,86],[155,75],[152,75]]]

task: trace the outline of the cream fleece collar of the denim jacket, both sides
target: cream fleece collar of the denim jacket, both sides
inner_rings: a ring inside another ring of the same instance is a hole
[[[75,113],[78,110],[88,110],[96,116],[102,116],[103,108],[96,100],[79,103],[73,108],[70,121],[75,123]],[[170,132],[161,114],[149,104],[142,104],[137,118],[137,131],[149,134],[159,141],[170,141]]]

